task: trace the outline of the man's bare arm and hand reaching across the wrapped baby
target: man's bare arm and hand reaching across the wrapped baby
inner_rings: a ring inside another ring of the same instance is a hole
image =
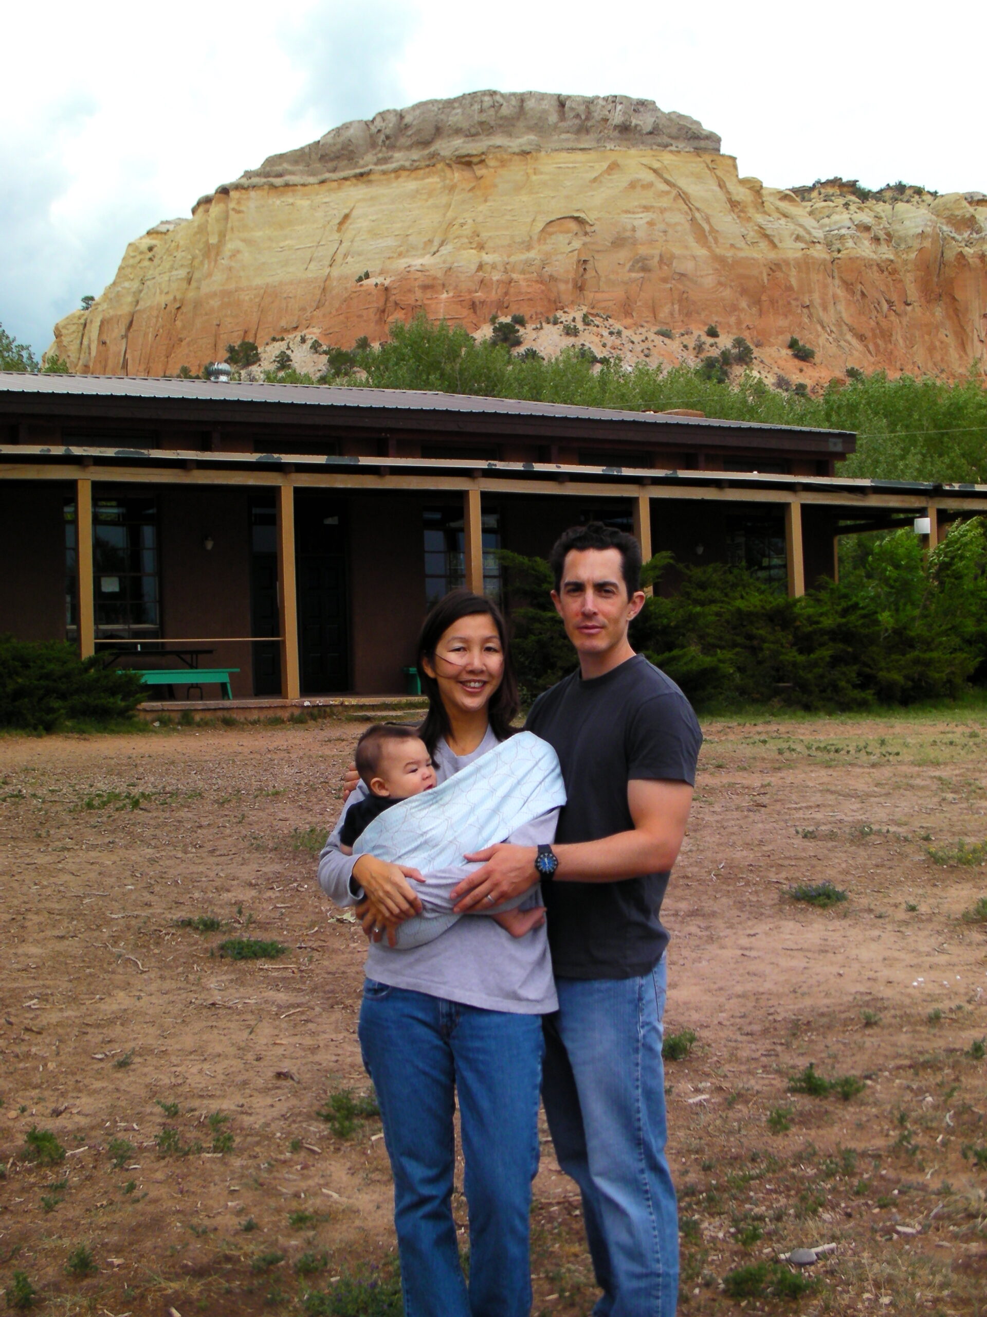
[[[553,881],[621,882],[644,873],[663,873],[678,857],[691,805],[688,782],[632,780],[628,809],[634,827],[596,842],[553,847],[558,856]],[[467,860],[486,863],[453,892],[455,910],[466,913],[486,901],[487,894],[500,902],[533,886],[538,881],[537,853],[537,847],[500,844],[467,855]]]

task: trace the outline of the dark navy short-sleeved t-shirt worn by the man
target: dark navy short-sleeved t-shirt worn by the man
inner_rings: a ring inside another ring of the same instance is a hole
[[[595,842],[634,826],[632,780],[695,784],[703,743],[692,706],[641,655],[583,681],[578,672],[540,695],[526,730],[562,764],[566,805],[555,840]],[[669,873],[616,882],[542,882],[558,979],[649,973],[669,944],[659,914]]]

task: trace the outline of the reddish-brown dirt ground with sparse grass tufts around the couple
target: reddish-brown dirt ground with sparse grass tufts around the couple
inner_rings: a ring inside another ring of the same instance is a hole
[[[315,878],[358,731],[0,739],[11,1308],[392,1310],[380,1125],[345,1096],[363,940]],[[984,747],[984,714],[707,724],[665,909],[683,1313],[987,1313],[987,871],[949,863],[987,838]],[[790,896],[825,880],[848,900]],[[848,1096],[792,1092],[809,1064]],[[536,1200],[534,1312],[582,1317],[547,1135]]]

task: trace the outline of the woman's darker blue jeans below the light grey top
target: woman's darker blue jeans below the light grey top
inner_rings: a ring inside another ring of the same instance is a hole
[[[367,979],[359,1042],[393,1172],[405,1317],[528,1317],[541,1015],[480,1010]],[[468,1291],[451,1209],[457,1093]]]

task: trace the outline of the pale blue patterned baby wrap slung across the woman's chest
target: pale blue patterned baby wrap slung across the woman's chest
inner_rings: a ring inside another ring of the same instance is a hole
[[[441,786],[384,810],[357,838],[353,853],[374,855],[425,874],[467,869],[463,860],[467,852],[505,842],[522,824],[565,803],[566,788],[555,751],[532,732],[519,732]],[[418,889],[418,884],[413,886]],[[426,890],[428,884],[418,894],[428,903]],[[446,913],[408,919],[399,928],[397,946],[432,942],[459,918],[446,906]]]

